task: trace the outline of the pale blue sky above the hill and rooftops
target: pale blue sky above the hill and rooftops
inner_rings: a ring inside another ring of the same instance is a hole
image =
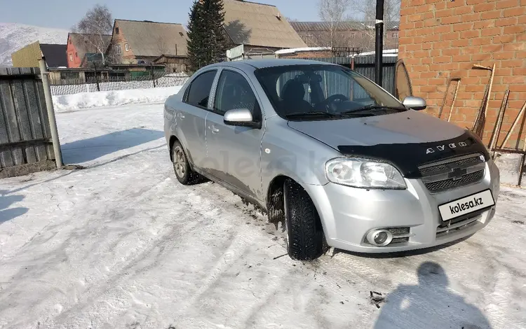
[[[193,0],[0,0],[0,22],[71,29],[96,3],[105,4],[114,18],[182,23]],[[318,20],[317,0],[253,0],[277,6],[281,14],[302,21]],[[28,10],[30,8],[30,10]]]

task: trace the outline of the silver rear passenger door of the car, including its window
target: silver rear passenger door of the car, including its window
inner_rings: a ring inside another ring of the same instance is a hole
[[[178,138],[186,148],[191,163],[203,167],[205,160],[205,118],[217,69],[200,73],[184,92],[181,109],[176,109],[175,120],[181,134]]]

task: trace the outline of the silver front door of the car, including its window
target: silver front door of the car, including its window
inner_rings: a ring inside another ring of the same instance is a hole
[[[217,82],[214,109],[205,119],[207,163],[210,174],[263,200],[261,183],[262,129],[225,125],[223,115],[233,109],[249,109],[262,120],[261,108],[252,86],[241,71],[223,69]]]

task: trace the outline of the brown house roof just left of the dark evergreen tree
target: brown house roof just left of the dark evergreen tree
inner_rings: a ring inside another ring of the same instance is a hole
[[[187,55],[187,31],[180,24],[115,20],[135,56]]]

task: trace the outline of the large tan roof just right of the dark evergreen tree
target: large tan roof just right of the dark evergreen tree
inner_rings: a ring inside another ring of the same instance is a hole
[[[300,48],[306,44],[276,6],[224,0],[224,29],[237,45]]]

